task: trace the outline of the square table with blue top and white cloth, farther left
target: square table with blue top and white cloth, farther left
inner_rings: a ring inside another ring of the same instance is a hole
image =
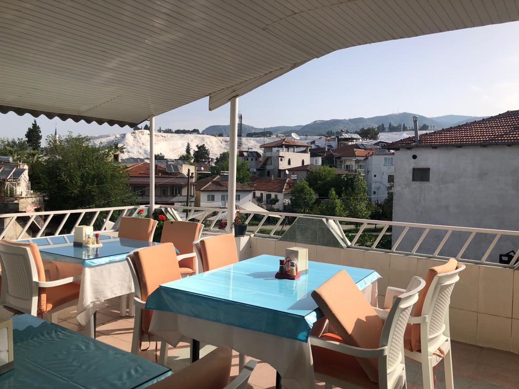
[[[95,337],[94,314],[104,300],[134,292],[126,256],[138,248],[158,243],[100,235],[101,247],[74,245],[74,235],[33,238],[23,242],[38,245],[42,259],[52,262],[53,279],[81,275],[77,321],[87,335]],[[49,268],[47,263],[46,268]],[[126,312],[121,313],[126,315]]]

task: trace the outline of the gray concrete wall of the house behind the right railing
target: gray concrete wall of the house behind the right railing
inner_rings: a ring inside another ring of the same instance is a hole
[[[519,229],[519,146],[400,149],[394,165],[394,221]],[[413,182],[413,168],[430,168],[430,181]],[[393,229],[393,243],[400,231]],[[399,249],[412,249],[422,231],[410,229]],[[418,252],[432,254],[443,235],[429,232]],[[453,233],[439,255],[457,255],[468,236]],[[480,259],[493,238],[476,234],[462,257]],[[487,260],[497,262],[499,253],[518,248],[519,239],[501,237]]]

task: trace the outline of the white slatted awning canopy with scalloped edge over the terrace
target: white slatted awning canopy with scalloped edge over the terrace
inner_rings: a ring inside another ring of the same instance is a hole
[[[0,2],[0,112],[136,124],[332,51],[519,20],[519,0]]]

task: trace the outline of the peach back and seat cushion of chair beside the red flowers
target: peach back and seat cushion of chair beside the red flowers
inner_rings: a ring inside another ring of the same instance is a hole
[[[194,253],[193,242],[200,238],[203,226],[194,221],[164,222],[160,243],[171,242],[180,251],[180,254]],[[192,274],[196,270],[196,257],[184,258],[179,261],[181,274]]]

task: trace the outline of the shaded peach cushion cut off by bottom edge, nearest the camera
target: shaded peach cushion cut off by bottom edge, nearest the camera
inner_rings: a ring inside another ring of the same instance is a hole
[[[232,356],[230,349],[218,347],[149,389],[223,389],[229,384]]]

